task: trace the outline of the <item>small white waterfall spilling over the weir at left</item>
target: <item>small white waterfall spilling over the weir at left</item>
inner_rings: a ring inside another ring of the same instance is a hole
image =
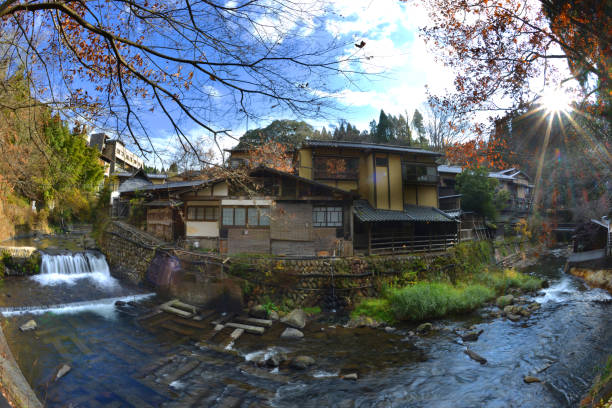
[[[32,279],[43,286],[74,285],[79,279],[90,279],[102,287],[118,284],[110,274],[104,255],[94,252],[43,254],[40,274]]]

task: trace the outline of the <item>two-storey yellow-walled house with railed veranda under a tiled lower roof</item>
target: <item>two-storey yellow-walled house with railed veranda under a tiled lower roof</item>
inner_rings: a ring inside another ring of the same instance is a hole
[[[359,196],[353,204],[356,251],[437,251],[457,242],[457,220],[438,208],[440,153],[307,140],[296,155],[301,177]]]

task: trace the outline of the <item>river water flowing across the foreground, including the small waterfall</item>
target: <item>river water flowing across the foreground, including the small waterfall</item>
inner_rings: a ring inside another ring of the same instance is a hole
[[[528,268],[551,285],[520,322],[483,317],[484,309],[434,322],[440,330],[420,337],[409,325],[387,333],[319,321],[300,341],[280,339],[277,324],[243,335],[230,353],[196,345],[167,318],[142,324],[138,317],[161,300],[114,280],[103,260],[49,255],[41,275],[0,288],[7,340],[48,406],[573,407],[612,353],[610,296],[565,275],[560,258]],[[21,333],[31,318],[38,329]],[[472,325],[484,332],[463,344],[453,330]],[[488,362],[471,360],[466,346]],[[316,363],[296,371],[250,361],[277,353]],[[64,363],[72,371],[53,381]],[[349,372],[359,380],[340,378]],[[543,382],[525,384],[525,375]]]

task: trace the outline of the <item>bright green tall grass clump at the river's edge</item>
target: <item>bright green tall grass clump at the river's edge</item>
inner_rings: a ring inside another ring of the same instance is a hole
[[[495,296],[480,284],[455,287],[448,283],[421,282],[386,294],[393,315],[399,320],[425,320],[474,310]]]

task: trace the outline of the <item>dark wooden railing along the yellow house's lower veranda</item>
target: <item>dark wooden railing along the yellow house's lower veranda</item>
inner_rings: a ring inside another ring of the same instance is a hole
[[[374,233],[370,238],[372,254],[441,252],[457,245],[457,234],[415,236],[405,233]]]

